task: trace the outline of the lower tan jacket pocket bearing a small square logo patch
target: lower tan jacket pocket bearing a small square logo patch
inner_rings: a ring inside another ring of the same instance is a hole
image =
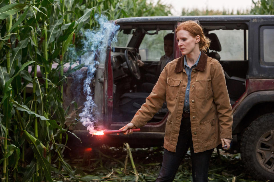
[[[216,130],[214,119],[210,119],[208,121],[204,121],[200,123],[200,133],[202,137],[202,141],[209,142],[211,140],[215,140],[216,138]]]

